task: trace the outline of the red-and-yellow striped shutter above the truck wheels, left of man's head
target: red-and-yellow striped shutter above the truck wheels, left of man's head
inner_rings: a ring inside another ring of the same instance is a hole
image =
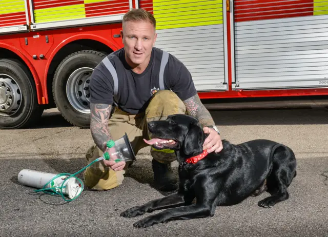
[[[31,0],[32,30],[121,21],[135,0]]]

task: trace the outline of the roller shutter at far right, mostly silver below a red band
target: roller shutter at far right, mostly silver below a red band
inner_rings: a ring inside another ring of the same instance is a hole
[[[328,84],[328,0],[234,1],[236,89]]]

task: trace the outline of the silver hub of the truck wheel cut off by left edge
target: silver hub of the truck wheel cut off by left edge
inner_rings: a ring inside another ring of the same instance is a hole
[[[5,113],[16,111],[21,97],[16,82],[10,76],[0,74],[0,111]]]

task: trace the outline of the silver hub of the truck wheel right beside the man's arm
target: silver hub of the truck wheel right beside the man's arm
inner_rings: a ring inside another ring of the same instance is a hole
[[[93,69],[83,67],[76,69],[68,78],[66,95],[70,104],[77,111],[90,114],[90,76]]]

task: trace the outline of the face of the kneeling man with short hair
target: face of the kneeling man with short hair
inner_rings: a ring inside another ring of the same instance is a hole
[[[130,66],[148,65],[157,37],[154,26],[150,22],[125,22],[121,34]]]

